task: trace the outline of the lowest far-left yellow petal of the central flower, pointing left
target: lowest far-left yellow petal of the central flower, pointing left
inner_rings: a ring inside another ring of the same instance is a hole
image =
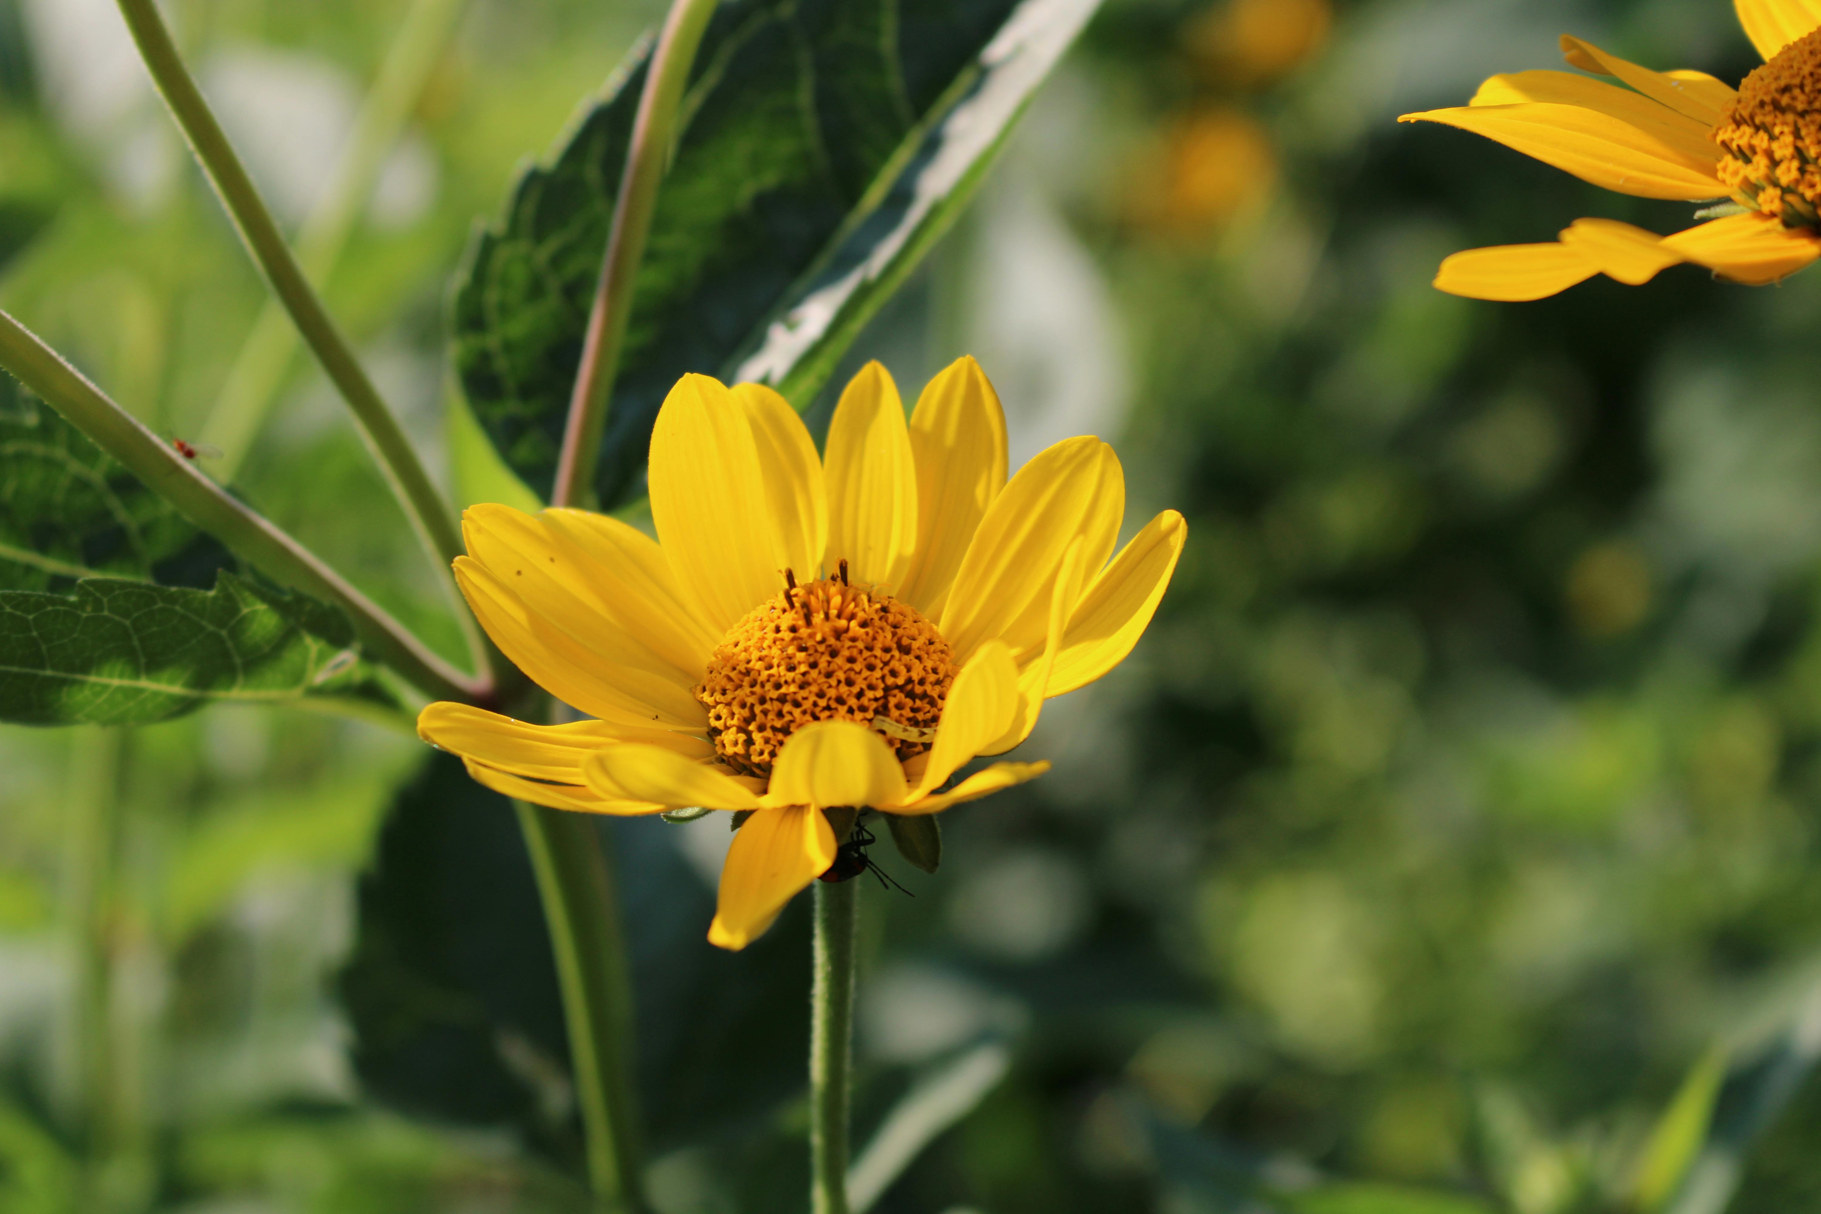
[[[690,759],[708,759],[707,739],[668,730],[639,730],[606,721],[530,724],[468,704],[435,703],[417,713],[417,735],[432,746],[532,779],[579,784],[581,764],[601,746],[650,743]]]

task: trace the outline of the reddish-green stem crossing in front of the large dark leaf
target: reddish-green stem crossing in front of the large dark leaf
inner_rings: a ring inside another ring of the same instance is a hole
[[[717,4],[719,0],[676,0],[646,67],[639,113],[632,122],[626,171],[619,178],[619,198],[614,200],[606,257],[601,260],[601,278],[588,309],[581,366],[575,371],[568,420],[563,428],[563,453],[557,457],[557,479],[550,493],[554,506],[594,504],[594,466],[601,455],[606,400],[619,371],[626,322],[632,319],[634,280],[645,258],[652,213],[657,209],[657,184],[670,167],[677,107],[701,35]]]

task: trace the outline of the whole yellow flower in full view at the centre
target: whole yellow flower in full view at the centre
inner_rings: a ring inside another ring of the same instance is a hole
[[[417,728],[539,804],[750,810],[708,932],[723,948],[834,863],[825,808],[934,814],[1042,775],[996,763],[947,788],[1131,652],[1187,533],[1165,510],[1113,555],[1125,477],[1098,439],[1007,482],[1005,415],[972,359],[909,424],[885,368],[863,368],[827,460],[770,388],[685,375],[652,430],[650,501],[657,541],[579,510],[468,510],[455,577],[475,615],[594,719],[443,703]]]

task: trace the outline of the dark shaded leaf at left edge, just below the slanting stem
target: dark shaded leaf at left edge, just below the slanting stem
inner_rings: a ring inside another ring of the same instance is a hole
[[[208,590],[235,568],[215,539],[0,375],[0,590],[126,577]]]

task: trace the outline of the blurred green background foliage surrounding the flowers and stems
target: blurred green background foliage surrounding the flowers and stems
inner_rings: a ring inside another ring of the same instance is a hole
[[[302,224],[406,5],[169,11]],[[450,277],[656,13],[461,4],[328,258],[463,501],[524,490],[453,395]],[[876,850],[914,897],[863,895],[861,1141],[949,1085],[876,1209],[1821,1210],[1821,273],[1433,291],[1582,215],[1686,226],[1395,122],[1566,31],[1755,64],[1724,0],[1107,0],[850,357],[912,397],[976,353],[1014,466],[1107,437],[1127,531],[1191,537],[1051,704],[1049,777],[947,814],[934,877]],[[171,437],[248,357],[260,284],[107,0],[0,0],[0,304]],[[275,366],[237,484],[452,639],[331,389]],[[725,821],[608,841],[654,1205],[801,1209],[801,912],[716,954]],[[0,728],[0,1210],[585,1209],[515,846],[366,723]],[[1664,1192],[1715,1090],[1719,1179]]]

